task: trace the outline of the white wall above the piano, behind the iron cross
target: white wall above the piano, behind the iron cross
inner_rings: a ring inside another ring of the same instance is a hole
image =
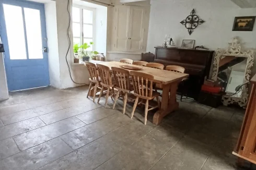
[[[183,39],[195,40],[196,45],[204,45],[212,50],[225,48],[233,37],[239,37],[246,47],[256,48],[256,26],[250,31],[232,31],[236,16],[255,16],[256,8],[240,8],[231,1],[223,0],[152,0],[149,20],[147,51],[155,53],[154,46],[164,43],[165,34],[170,34],[177,46]],[[180,21],[196,14],[206,22],[199,25],[189,35]],[[255,56],[256,58],[256,56]],[[256,66],[253,66],[253,73]]]

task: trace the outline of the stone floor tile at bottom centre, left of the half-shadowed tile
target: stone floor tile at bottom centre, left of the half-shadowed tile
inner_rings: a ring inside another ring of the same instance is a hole
[[[108,162],[104,163],[97,170],[101,169],[149,169],[152,167],[169,148],[150,138],[143,137],[130,147],[127,147],[115,155]]]

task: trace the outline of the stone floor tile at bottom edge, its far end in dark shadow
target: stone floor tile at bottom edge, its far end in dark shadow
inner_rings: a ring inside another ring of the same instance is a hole
[[[179,169],[198,170],[202,167],[211,151],[207,145],[190,138],[182,138],[152,170]]]

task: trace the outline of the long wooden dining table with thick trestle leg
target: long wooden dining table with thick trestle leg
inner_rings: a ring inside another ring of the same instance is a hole
[[[153,75],[153,81],[162,84],[161,108],[159,108],[159,110],[154,114],[153,124],[158,125],[166,115],[179,108],[179,103],[176,101],[176,91],[178,89],[178,84],[182,81],[182,79],[189,77],[188,74],[125,64],[120,62],[103,62],[100,64],[108,66],[110,69],[111,67],[121,67],[124,65],[142,68],[142,70],[136,71],[145,72],[146,74]]]

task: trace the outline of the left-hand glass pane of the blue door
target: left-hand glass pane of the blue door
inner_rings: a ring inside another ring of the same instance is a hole
[[[27,59],[22,10],[3,4],[10,59]]]

